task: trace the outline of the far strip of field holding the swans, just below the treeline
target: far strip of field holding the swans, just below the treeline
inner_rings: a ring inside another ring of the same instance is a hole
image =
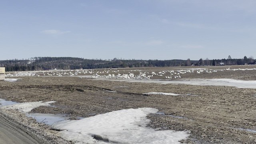
[[[26,72],[6,72],[8,76],[84,76],[87,78],[110,78],[109,74],[134,74],[141,79],[189,79],[189,78],[230,78],[238,80],[256,80],[256,65],[237,66],[186,66],[186,67],[149,67],[149,68],[112,68],[112,69],[86,69],[86,70],[46,70]],[[173,72],[170,72],[173,71]],[[155,74],[152,74],[154,72]],[[200,73],[199,73],[200,72]],[[178,74],[180,78],[178,77]],[[142,76],[142,74],[144,76]],[[92,77],[93,76],[93,77]],[[168,78],[169,77],[169,78]],[[176,77],[176,78],[175,78]],[[132,78],[130,76],[130,78]]]

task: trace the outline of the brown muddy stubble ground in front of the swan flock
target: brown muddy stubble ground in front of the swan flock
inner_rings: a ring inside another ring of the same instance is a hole
[[[238,79],[255,80],[256,70],[228,71]],[[244,74],[247,72],[248,74]],[[241,74],[240,74],[241,73]],[[224,78],[224,74],[206,78]],[[197,75],[193,75],[197,78]],[[193,77],[192,76],[192,77]],[[210,76],[210,77],[209,77]],[[188,76],[189,77],[189,76]],[[0,81],[0,98],[15,102],[56,101],[31,113],[64,114],[71,119],[127,108],[157,108],[148,116],[157,130],[189,130],[185,143],[256,143],[256,89],[91,80],[79,77],[25,76]],[[191,78],[191,76],[190,76]],[[110,92],[115,91],[115,92]],[[170,92],[179,96],[145,95]]]

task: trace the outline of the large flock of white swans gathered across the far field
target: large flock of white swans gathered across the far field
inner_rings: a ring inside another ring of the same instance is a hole
[[[182,78],[182,74],[186,73],[213,73],[224,70],[256,70],[256,68],[245,68],[245,69],[221,69],[212,70],[206,68],[189,68],[186,70],[164,70],[160,72],[147,72],[142,70],[124,70],[124,69],[103,69],[103,70],[46,70],[46,71],[27,71],[27,72],[14,72],[5,74],[6,77],[9,76],[80,76],[80,78],[107,78],[107,79],[135,79],[135,80],[149,80],[152,77],[158,76],[160,79],[178,79]],[[136,73],[136,75],[134,74]]]

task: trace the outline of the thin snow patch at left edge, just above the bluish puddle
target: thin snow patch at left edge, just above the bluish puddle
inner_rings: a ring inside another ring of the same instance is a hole
[[[32,109],[37,108],[39,106],[50,106],[51,103],[54,103],[55,101],[49,101],[49,102],[24,102],[24,103],[18,103],[18,104],[12,104],[8,106],[2,106],[2,108],[5,109],[16,109],[20,112],[28,113]]]

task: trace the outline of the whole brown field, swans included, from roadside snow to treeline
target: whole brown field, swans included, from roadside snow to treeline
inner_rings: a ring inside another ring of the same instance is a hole
[[[10,72],[6,78],[21,79],[0,81],[0,98],[15,102],[56,101],[56,107],[40,106],[31,113],[64,114],[74,120],[150,107],[159,112],[148,115],[148,126],[189,130],[189,138],[182,142],[256,143],[256,89],[236,88],[256,84],[255,65]],[[234,79],[237,86],[150,82],[219,78]]]

